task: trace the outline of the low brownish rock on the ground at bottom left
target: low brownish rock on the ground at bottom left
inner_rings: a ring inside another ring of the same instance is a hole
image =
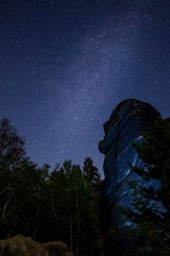
[[[0,241],[0,256],[71,256],[68,247],[60,241],[39,243],[31,237],[14,236]]]

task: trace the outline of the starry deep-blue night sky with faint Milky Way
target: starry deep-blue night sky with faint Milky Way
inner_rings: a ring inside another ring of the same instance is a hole
[[[170,1],[0,0],[0,118],[39,166],[86,156],[126,98],[170,116]]]

